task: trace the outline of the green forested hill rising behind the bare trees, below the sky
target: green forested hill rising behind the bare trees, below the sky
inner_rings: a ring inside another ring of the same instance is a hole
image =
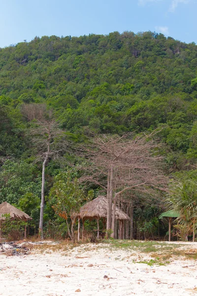
[[[86,126],[114,134],[167,124],[169,162],[193,158],[197,46],[151,32],[35,37],[0,49],[2,156],[20,158],[26,149],[24,103],[46,103],[73,134]]]

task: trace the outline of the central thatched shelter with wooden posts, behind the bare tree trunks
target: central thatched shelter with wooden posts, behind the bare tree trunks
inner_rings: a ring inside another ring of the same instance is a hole
[[[83,222],[83,236],[84,236],[84,221],[86,219],[92,220],[96,219],[98,224],[98,237],[99,237],[99,219],[103,219],[103,224],[105,224],[105,220],[107,218],[107,198],[103,195],[99,195],[97,198],[85,204],[81,207],[80,212],[78,214],[78,218],[82,219]],[[116,220],[120,223],[120,237],[122,238],[124,221],[130,221],[130,217],[124,213],[121,209],[116,207]],[[78,229],[80,230],[80,229]],[[78,231],[79,238],[79,231]]]

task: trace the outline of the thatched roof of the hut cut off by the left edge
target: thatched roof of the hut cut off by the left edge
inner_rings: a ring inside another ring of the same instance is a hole
[[[21,210],[13,207],[8,202],[3,202],[0,204],[0,220],[4,220],[2,217],[4,214],[9,214],[12,219],[21,219],[21,220],[31,220],[32,218]]]

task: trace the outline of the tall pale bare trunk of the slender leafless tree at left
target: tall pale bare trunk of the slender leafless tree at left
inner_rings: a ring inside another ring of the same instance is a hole
[[[48,145],[48,152],[49,152],[49,145]],[[40,222],[39,222],[39,234],[40,238],[44,239],[43,234],[43,215],[44,215],[44,185],[45,185],[45,166],[48,160],[48,152],[46,157],[44,158],[44,162],[42,164],[42,189],[41,189],[41,204],[40,204]]]

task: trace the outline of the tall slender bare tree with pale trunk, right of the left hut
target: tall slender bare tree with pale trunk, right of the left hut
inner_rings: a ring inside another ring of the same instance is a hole
[[[39,221],[39,233],[41,239],[43,239],[45,168],[50,158],[57,158],[66,149],[67,142],[65,140],[65,133],[59,128],[59,123],[52,118],[52,112],[46,111],[44,105],[24,105],[23,114],[28,120],[34,119],[28,134],[31,136],[37,150],[37,160],[43,161]]]

